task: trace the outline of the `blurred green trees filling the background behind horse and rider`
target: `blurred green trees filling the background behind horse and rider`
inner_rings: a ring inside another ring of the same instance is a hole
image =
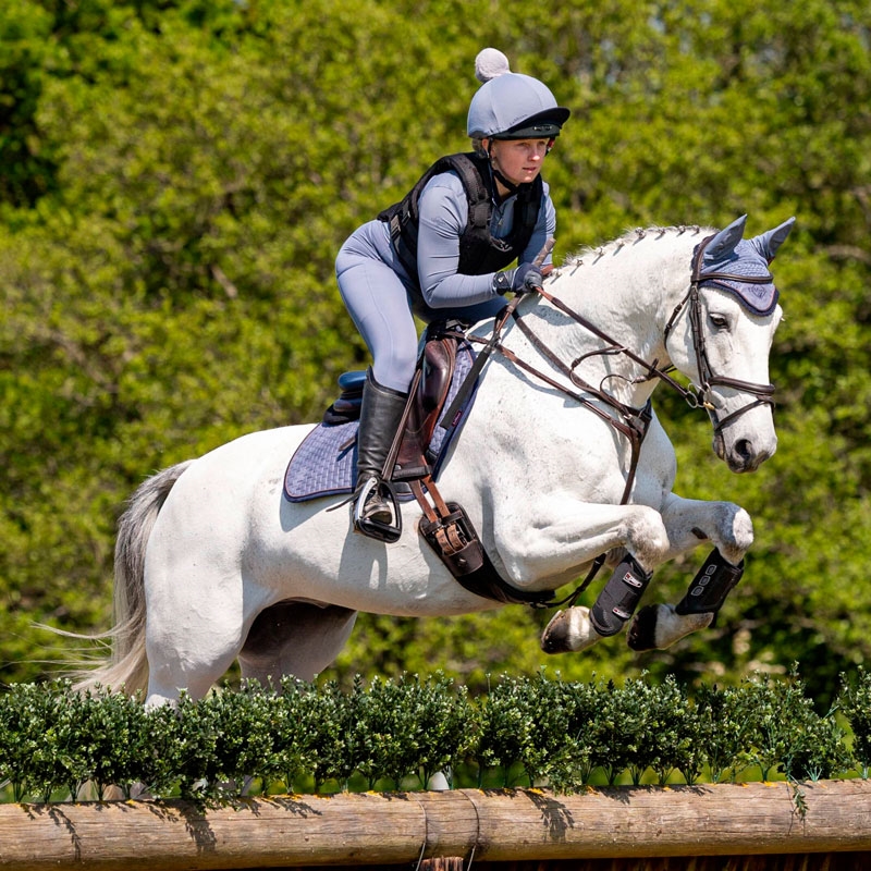
[[[866,4],[507,0],[492,12],[488,0],[5,0],[5,680],[44,676],[75,643],[34,624],[108,628],[114,522],[143,477],[316,419],[338,375],[365,365],[333,258],[436,157],[467,147],[486,45],[573,109],[545,172],[557,259],[627,226],[748,212],[756,233],[798,216],[774,267],[777,455],[729,475],[706,422],[657,393],[682,494],[728,498],[755,518],[745,579],[716,629],[640,657],[606,642],[561,659],[563,677],[715,677],[719,703],[743,675],[800,661],[825,706],[871,655]],[[663,567],[650,596],[676,601],[698,562]],[[347,688],[361,663],[367,678],[436,667],[481,689],[488,674],[549,662],[540,618],[367,615],[330,676]]]

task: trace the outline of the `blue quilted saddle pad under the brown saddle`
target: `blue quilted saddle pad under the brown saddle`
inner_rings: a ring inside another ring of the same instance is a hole
[[[456,349],[456,366],[444,410],[451,407],[461,384],[466,378],[473,363],[475,352],[468,342],[461,342]],[[477,389],[477,384],[475,385]],[[436,426],[427,451],[427,458],[432,465],[432,477],[438,478],[441,461],[451,444],[454,433],[468,414],[475,401],[476,391],[473,390],[469,398],[461,408],[459,414],[445,429],[442,419]],[[347,424],[328,426],[319,424],[304,439],[296,449],[287,471],[284,475],[284,495],[291,502],[306,502],[320,496],[340,495],[351,493],[357,480],[357,427],[359,421],[352,420]],[[405,491],[405,493],[403,493]],[[407,487],[402,487],[398,496],[412,499]]]

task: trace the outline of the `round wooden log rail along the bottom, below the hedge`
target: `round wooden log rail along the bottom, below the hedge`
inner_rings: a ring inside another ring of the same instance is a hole
[[[0,806],[0,868],[42,871],[413,867],[597,858],[868,852],[871,781],[340,794]],[[846,857],[845,857],[846,858]],[[871,861],[869,866],[871,867]]]

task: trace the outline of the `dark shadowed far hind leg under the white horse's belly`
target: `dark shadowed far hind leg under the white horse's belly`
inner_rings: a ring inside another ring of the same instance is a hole
[[[311,602],[279,602],[262,611],[248,633],[238,661],[242,676],[263,686],[285,675],[314,680],[345,646],[356,611]]]

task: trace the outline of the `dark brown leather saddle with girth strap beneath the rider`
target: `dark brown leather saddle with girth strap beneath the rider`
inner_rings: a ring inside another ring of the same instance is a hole
[[[445,502],[434,481],[450,439],[474,400],[475,384],[465,383],[467,378],[477,375],[470,371],[474,354],[458,327],[458,323],[447,322],[428,330],[408,403],[385,466],[393,470],[385,483],[394,498],[417,500],[424,513],[418,524],[420,535],[463,587],[504,604],[544,606],[552,600],[553,593],[526,592],[506,584],[493,567],[465,510],[456,502]],[[463,365],[458,367],[461,345]],[[342,431],[346,429],[345,425],[359,419],[365,381],[366,373],[361,371],[345,372],[340,377],[342,392],[324,413],[321,428]],[[458,394],[465,401],[458,402]],[[450,419],[445,418],[445,410],[450,413]],[[317,430],[312,436],[316,433]],[[305,442],[297,454],[304,446]],[[345,439],[341,445],[345,456],[351,446]],[[341,455],[342,450],[339,453]],[[295,461],[296,456],[291,461],[285,477],[285,494],[289,499],[302,501],[329,492],[346,492],[321,489],[306,496],[294,494],[292,470]],[[379,529],[378,538],[388,542],[400,538],[402,520],[398,510],[395,516],[396,527]]]

